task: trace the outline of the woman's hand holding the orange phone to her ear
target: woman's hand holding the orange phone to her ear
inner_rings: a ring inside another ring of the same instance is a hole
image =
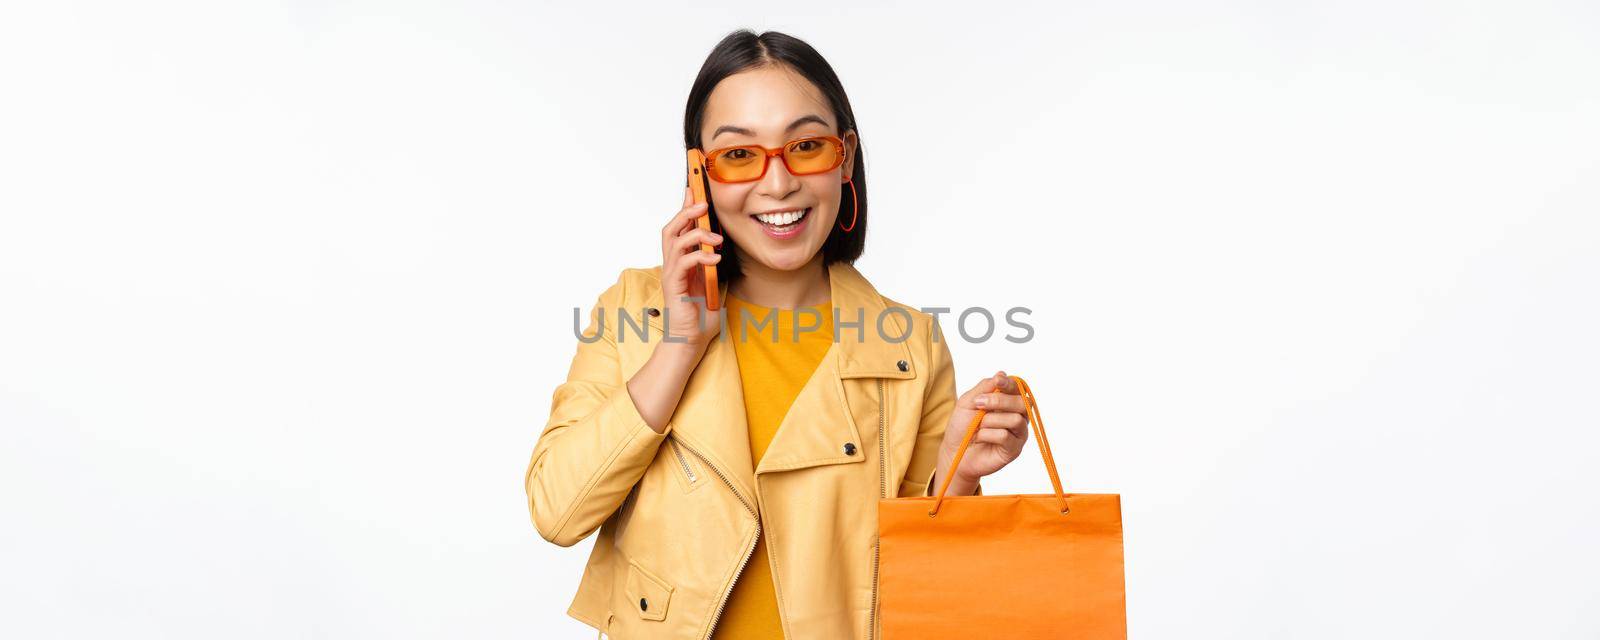
[[[722,331],[717,312],[706,309],[706,277],[696,267],[717,264],[720,253],[704,253],[704,242],[722,246],[722,235],[696,224],[706,214],[706,203],[694,203],[690,187],[683,187],[683,208],[661,229],[661,306],[666,331],[674,341],[704,347]],[[685,299],[698,298],[698,299]]]

